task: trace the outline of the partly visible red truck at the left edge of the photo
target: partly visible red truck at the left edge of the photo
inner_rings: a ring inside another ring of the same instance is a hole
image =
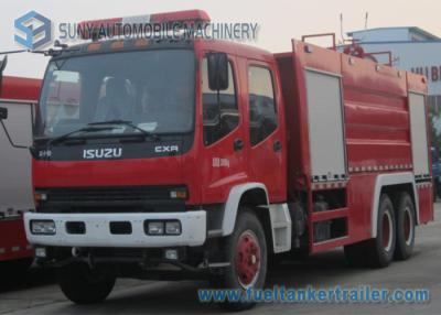
[[[0,106],[8,108],[4,126],[11,139],[24,146],[32,143],[33,110],[39,99],[41,80],[6,76],[1,80]],[[34,208],[32,197],[31,154],[10,145],[8,134],[0,129],[0,265],[22,271],[33,261],[28,243],[23,214]]]

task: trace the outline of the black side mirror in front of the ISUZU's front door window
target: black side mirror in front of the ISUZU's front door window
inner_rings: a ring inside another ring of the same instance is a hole
[[[208,87],[212,90],[228,88],[228,56],[226,53],[208,53]]]

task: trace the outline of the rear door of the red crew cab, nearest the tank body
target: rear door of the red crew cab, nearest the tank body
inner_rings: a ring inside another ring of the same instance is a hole
[[[271,203],[286,199],[286,141],[275,65],[248,61],[247,135],[251,181],[267,186]]]

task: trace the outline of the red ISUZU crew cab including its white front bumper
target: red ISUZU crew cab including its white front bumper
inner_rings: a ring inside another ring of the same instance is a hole
[[[237,209],[287,196],[278,80],[272,54],[223,41],[94,41],[51,58],[31,148],[36,210],[25,229],[40,264],[64,265],[71,300],[103,297],[73,287],[89,272],[82,262],[108,275],[106,290],[116,274],[142,278],[163,263],[234,269],[237,248],[225,242]],[[265,279],[263,229],[245,227],[235,241],[250,263],[228,286]]]

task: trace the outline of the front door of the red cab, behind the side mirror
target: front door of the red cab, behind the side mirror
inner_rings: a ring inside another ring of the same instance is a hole
[[[203,112],[202,204],[224,203],[234,185],[247,182],[245,127],[238,91],[237,61],[228,56],[228,88],[208,87],[207,59],[201,62]]]

